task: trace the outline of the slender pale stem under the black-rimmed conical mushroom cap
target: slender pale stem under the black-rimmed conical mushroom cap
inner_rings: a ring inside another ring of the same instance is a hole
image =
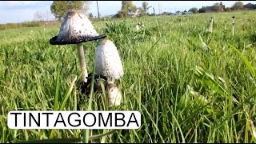
[[[88,77],[88,73],[86,68],[86,58],[85,58],[82,42],[77,44],[77,50],[78,50],[80,68],[82,70],[82,82],[87,82],[86,77]]]

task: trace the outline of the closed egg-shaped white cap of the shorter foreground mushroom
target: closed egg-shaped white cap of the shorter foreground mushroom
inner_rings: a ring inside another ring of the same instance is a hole
[[[101,74],[110,81],[123,76],[122,61],[118,54],[117,47],[110,40],[103,40],[96,50],[96,74]]]

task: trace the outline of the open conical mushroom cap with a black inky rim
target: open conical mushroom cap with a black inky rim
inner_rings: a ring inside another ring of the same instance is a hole
[[[82,10],[70,10],[66,13],[59,34],[50,38],[50,44],[77,44],[102,38],[106,38],[106,35],[98,34]]]

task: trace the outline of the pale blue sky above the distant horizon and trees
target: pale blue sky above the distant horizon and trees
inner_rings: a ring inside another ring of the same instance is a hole
[[[0,24],[33,21],[34,14],[39,12],[45,15],[45,19],[54,19],[54,15],[50,14],[50,5],[53,1],[0,1]],[[142,6],[143,1],[133,1],[137,7]],[[153,13],[153,7],[156,14],[162,12],[175,12],[190,10],[191,7],[212,6],[216,2],[222,2],[226,7],[232,6],[238,1],[147,1],[152,8],[149,12]],[[241,1],[244,4],[249,2],[256,4],[256,1]],[[101,16],[117,14],[121,9],[122,1],[98,1],[98,9]],[[96,1],[90,2],[90,10],[98,16]]]

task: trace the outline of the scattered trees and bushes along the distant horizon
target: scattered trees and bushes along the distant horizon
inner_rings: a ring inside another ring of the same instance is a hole
[[[55,18],[61,21],[61,19],[66,14],[66,11],[68,10],[87,11],[90,8],[89,6],[90,6],[90,1],[53,1],[53,3],[50,6],[50,11],[52,14],[54,14]],[[222,6],[222,2],[220,2],[220,3],[214,3],[212,11],[219,12],[219,11],[243,10],[243,6],[244,5],[242,2],[235,2],[233,6],[225,8]],[[151,7],[152,6],[150,6],[148,2],[142,2],[142,6],[137,7],[134,5],[133,1],[122,1],[121,10],[119,10],[118,13],[114,15],[114,18],[126,18],[129,16],[129,14],[135,14],[135,13],[139,14],[140,16],[155,15],[154,13],[149,14],[148,10]],[[202,6],[202,8],[200,9],[193,7],[189,11],[193,12],[194,14],[206,13],[207,7]],[[88,14],[88,16],[89,18],[93,18],[92,13]]]

